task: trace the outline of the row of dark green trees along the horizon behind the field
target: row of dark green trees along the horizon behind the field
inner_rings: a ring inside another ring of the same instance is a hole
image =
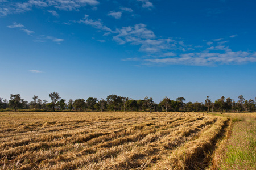
[[[68,102],[61,99],[58,92],[49,94],[49,99],[41,100],[38,96],[33,96],[32,101],[24,101],[20,94],[11,94],[10,100],[3,100],[0,97],[1,111],[30,109],[32,111],[158,111],[158,112],[254,112],[256,108],[255,100],[245,100],[242,95],[238,96],[238,101],[230,97],[222,96],[216,101],[211,101],[207,96],[204,103],[188,102],[184,103],[184,97],[171,100],[164,97],[159,104],[155,103],[152,97],[144,97],[142,100],[134,100],[129,97],[109,95],[106,99],[89,97],[85,99],[70,99]]]

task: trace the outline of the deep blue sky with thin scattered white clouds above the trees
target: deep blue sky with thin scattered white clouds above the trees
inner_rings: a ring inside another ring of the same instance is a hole
[[[0,0],[0,96],[256,97],[256,2]]]

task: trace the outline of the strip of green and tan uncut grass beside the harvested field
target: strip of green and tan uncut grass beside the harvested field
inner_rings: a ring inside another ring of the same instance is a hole
[[[213,156],[212,169],[256,169],[256,113],[230,113],[232,126]]]

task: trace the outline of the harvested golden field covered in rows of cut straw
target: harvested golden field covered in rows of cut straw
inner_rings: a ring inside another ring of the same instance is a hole
[[[0,113],[0,169],[204,169],[229,122],[205,113]]]

